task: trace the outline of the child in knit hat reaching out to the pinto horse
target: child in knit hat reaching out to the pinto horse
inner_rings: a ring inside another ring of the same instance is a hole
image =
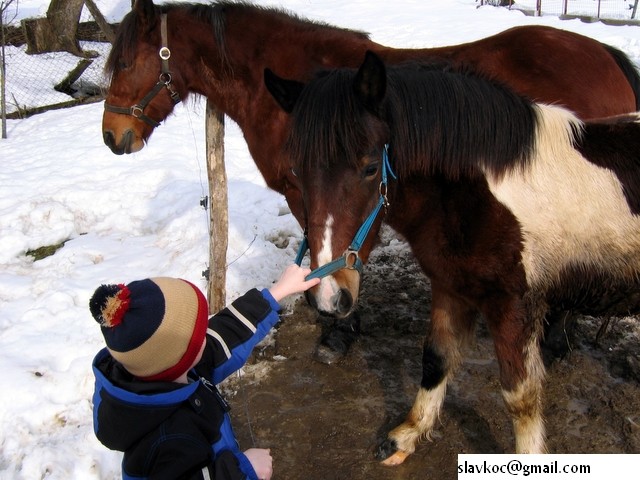
[[[319,282],[291,265],[209,318],[191,283],[151,278],[102,285],[89,308],[107,347],[93,361],[98,439],[124,452],[123,479],[269,480],[268,449],[241,452],[216,389],[279,320],[278,302]]]

